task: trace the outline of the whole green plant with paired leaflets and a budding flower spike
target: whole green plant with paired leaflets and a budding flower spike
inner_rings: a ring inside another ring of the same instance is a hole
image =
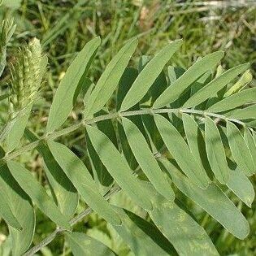
[[[251,77],[245,79],[249,64],[225,72],[219,66],[214,72],[223,58],[217,51],[188,70],[166,69],[181,44],[172,41],[132,68],[127,67],[137,48],[132,39],[94,85],[87,75],[100,38],[89,41],[61,80],[41,137],[26,126],[47,59],[36,39],[18,52],[11,67],[11,115],[1,132],[0,166],[0,215],[10,231],[13,255],[35,254],[59,234],[75,255],[115,255],[93,236],[72,232],[92,211],[136,255],[218,255],[183,195],[233,236],[249,234],[247,220],[227,196],[232,191],[247,206],[254,201],[249,176],[256,168],[256,89],[248,88]],[[79,96],[83,117],[62,128]],[[77,130],[85,136],[89,163],[55,141]],[[20,145],[23,134],[30,142]],[[33,149],[43,158],[50,194],[19,161]],[[108,202],[120,190],[143,214]],[[76,214],[79,197],[87,206]],[[35,208],[57,228],[29,249]]]

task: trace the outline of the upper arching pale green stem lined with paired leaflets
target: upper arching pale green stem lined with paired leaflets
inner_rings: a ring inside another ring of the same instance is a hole
[[[225,115],[219,115],[215,113],[210,113],[207,111],[198,111],[198,110],[193,110],[193,109],[182,109],[182,108],[163,108],[163,109],[151,109],[151,108],[145,108],[140,111],[126,111],[126,112],[116,112],[116,113],[111,113],[111,114],[106,114],[106,115],[99,115],[97,117],[94,117],[92,119],[83,119],[80,121],[78,124],[73,124],[72,126],[69,126],[67,128],[63,128],[63,130],[56,131],[56,132],[51,132],[43,137],[39,138],[37,141],[33,141],[31,143],[28,143],[28,145],[24,145],[22,148],[19,150],[12,151],[11,153],[7,153],[2,159],[0,163],[0,166],[5,163],[6,161],[9,161],[11,159],[16,158],[20,154],[24,154],[24,152],[27,152],[29,150],[33,150],[39,145],[41,141],[53,141],[54,139],[61,137],[63,135],[66,135],[70,132],[76,131],[78,128],[85,127],[85,125],[88,124],[94,124],[98,123],[100,121],[106,120],[106,119],[113,119],[113,118],[118,118],[118,117],[125,117],[125,116],[132,116],[132,115],[154,115],[154,114],[163,114],[163,113],[188,113],[192,115],[206,115],[210,117],[215,117],[218,119],[223,119],[223,120],[228,120],[236,124],[241,124],[242,126],[246,126],[246,124],[238,119],[232,119],[228,118]],[[249,128],[250,130],[253,130],[252,128]]]

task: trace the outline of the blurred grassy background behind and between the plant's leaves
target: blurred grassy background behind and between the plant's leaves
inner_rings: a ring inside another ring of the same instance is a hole
[[[1,1],[0,1],[1,2]],[[119,50],[124,42],[132,37],[139,38],[137,53],[132,64],[137,65],[138,56],[154,54],[167,45],[167,41],[184,39],[176,57],[171,61],[180,67],[189,67],[199,56],[215,50],[224,50],[223,68],[234,67],[240,63],[250,62],[252,72],[256,71],[256,3],[254,1],[161,1],[161,0],[3,0],[0,7],[0,20],[14,16],[17,24],[15,37],[10,43],[8,63],[13,58],[13,51],[32,37],[41,40],[43,50],[49,57],[50,66],[46,74],[41,99],[33,109],[33,130],[41,135],[46,126],[46,116],[50,102],[59,80],[63,77],[68,65],[81,50],[85,42],[100,36],[102,44],[90,70],[98,78],[106,64]],[[9,76],[5,72],[0,84],[2,93],[8,89]],[[254,80],[253,82],[254,83]],[[80,99],[82,102],[82,99]],[[72,112],[67,124],[80,119],[80,107]],[[7,104],[0,107],[0,121],[6,118]],[[84,156],[85,141],[79,133],[73,133],[63,139],[76,154]],[[34,171],[43,184],[47,182],[41,169],[41,158],[37,153],[24,154],[22,162]],[[255,181],[255,180],[254,180]],[[255,184],[255,182],[254,182]],[[180,202],[186,199],[180,194]],[[230,197],[236,202],[236,198]],[[138,215],[145,216],[141,209],[134,208],[123,193],[111,199],[111,202],[122,205]],[[236,205],[239,202],[236,202]],[[84,208],[80,205],[80,210]],[[215,220],[211,219],[197,206],[189,210],[206,228],[221,255],[255,255],[256,254],[256,206],[251,209],[242,206],[246,219],[249,220],[251,233],[245,241],[239,241],[225,232]],[[44,215],[37,219],[37,230],[34,243],[37,244],[50,232],[54,225]],[[82,223],[76,225],[75,231],[85,231],[90,236],[109,245],[119,252],[128,254],[128,247],[117,237],[115,231],[98,215],[89,215]],[[7,227],[0,223],[0,255],[8,255],[10,241],[6,240]],[[114,243],[115,241],[115,243]],[[42,255],[70,255],[63,240],[55,240],[41,251]]]

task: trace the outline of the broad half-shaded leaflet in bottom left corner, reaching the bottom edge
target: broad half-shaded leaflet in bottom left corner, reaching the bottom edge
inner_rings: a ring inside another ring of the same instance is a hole
[[[20,256],[28,249],[33,241],[36,224],[33,204],[30,198],[20,188],[20,185],[11,176],[7,165],[0,167],[0,186],[5,192],[7,202],[15,219],[20,223],[22,230],[18,231],[8,225],[11,234],[11,251],[13,256]],[[10,217],[10,216],[9,216]]]

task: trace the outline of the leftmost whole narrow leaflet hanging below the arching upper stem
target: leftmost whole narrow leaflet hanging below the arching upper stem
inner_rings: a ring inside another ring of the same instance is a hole
[[[32,198],[33,202],[37,204],[38,208],[54,221],[54,223],[57,223],[60,227],[69,229],[70,225],[67,217],[61,214],[54,201],[48,196],[46,190],[33,175],[20,163],[9,161],[7,165],[11,171],[11,175],[14,176],[25,193]]]

